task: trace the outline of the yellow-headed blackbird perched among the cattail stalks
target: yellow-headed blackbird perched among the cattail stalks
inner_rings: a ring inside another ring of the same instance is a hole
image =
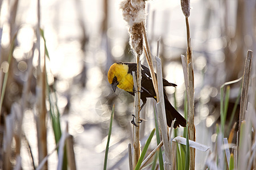
[[[154,90],[154,86],[152,83],[150,70],[146,67],[141,65],[141,100],[143,102],[141,108],[146,104],[147,97],[152,97],[156,100],[156,94]],[[136,90],[133,86],[133,73],[132,71],[137,70],[137,63],[128,63],[128,62],[115,62],[109,69],[108,72],[108,80],[111,84],[114,92],[117,87],[121,88],[129,92],[129,94],[134,96],[134,92]],[[166,79],[163,78],[163,86],[177,86],[176,84],[169,83]],[[174,128],[179,127],[179,125],[185,127],[186,120],[183,116],[180,115],[179,112],[176,111],[174,107],[172,107],[170,101],[167,98],[166,91],[163,90],[164,93],[164,105],[166,109],[166,119],[167,125],[170,127],[172,120],[176,118]]]

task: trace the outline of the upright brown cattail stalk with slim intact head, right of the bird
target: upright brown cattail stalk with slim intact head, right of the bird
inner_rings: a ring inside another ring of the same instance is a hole
[[[188,137],[191,141],[196,141],[195,136],[195,125],[194,125],[194,116],[195,116],[195,88],[194,88],[194,70],[193,70],[193,56],[192,56],[192,48],[191,48],[191,37],[189,31],[189,22],[188,17],[190,15],[190,1],[189,0],[181,0],[181,9],[183,14],[185,15],[185,22],[187,28],[187,71],[188,77],[188,84],[186,86],[187,89],[187,99],[188,99]],[[186,82],[186,81],[185,81]],[[195,149],[190,147],[190,162],[189,162],[190,169],[195,169]]]

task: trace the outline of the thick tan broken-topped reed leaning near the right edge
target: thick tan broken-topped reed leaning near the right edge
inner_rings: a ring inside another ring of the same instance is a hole
[[[249,89],[249,80],[250,80],[250,74],[251,74],[252,59],[253,59],[253,51],[248,50],[246,60],[245,60],[245,67],[243,70],[243,82],[242,82],[241,102],[240,102],[240,116],[239,116],[238,131],[237,131],[237,146],[239,146],[239,142],[240,142],[241,122],[243,120],[245,120],[245,113],[246,113],[246,109],[247,109],[247,99],[248,99],[248,89]]]

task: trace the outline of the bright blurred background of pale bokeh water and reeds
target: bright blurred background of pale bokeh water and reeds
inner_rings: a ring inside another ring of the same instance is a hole
[[[39,149],[42,141],[38,142],[38,136],[43,130],[39,128],[42,121],[38,117],[44,115],[47,154],[53,151],[48,157],[48,169],[56,169],[53,128],[56,124],[52,123],[55,114],[61,131],[65,131],[68,123],[77,169],[102,169],[113,104],[108,168],[129,168],[127,145],[133,141],[130,123],[133,96],[119,89],[114,93],[107,78],[115,61],[135,62],[120,2],[45,0],[38,5],[38,1],[0,1],[0,168],[5,167],[6,161],[11,168],[18,164],[22,169],[38,166],[42,160]],[[180,1],[146,1],[146,12],[152,56],[156,55],[160,38],[163,76],[177,84],[177,88],[167,87],[166,91],[171,103],[183,114],[185,87],[180,55],[186,54],[187,35]],[[255,21],[254,0],[191,1],[189,25],[195,69],[197,142],[210,147],[215,142],[213,125],[220,117],[220,86],[240,78],[247,50],[256,51]],[[147,65],[143,55],[141,59]],[[255,72],[254,59],[251,72],[254,77]],[[40,83],[44,82],[44,75],[46,87]],[[240,86],[241,82],[231,86],[228,120]],[[45,103],[38,104],[42,101]],[[154,103],[150,99],[142,109],[141,117],[147,120],[141,124],[142,143],[154,128]],[[52,104],[56,111],[53,113]],[[237,115],[233,122],[237,121]],[[8,146],[10,160],[6,160]],[[204,161],[204,154],[196,155],[198,169]]]

